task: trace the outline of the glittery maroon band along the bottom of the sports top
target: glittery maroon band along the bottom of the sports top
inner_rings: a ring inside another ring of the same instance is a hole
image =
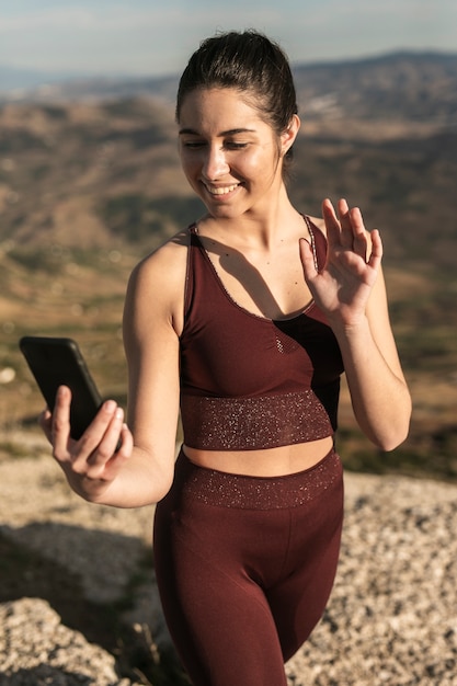
[[[262,450],[333,434],[311,389],[252,398],[181,396],[184,443],[201,450]]]

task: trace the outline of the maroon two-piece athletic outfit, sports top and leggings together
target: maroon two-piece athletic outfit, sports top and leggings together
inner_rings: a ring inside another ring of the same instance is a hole
[[[323,233],[306,217],[318,267]],[[259,450],[330,436],[343,363],[311,302],[273,321],[233,301],[190,227],[181,335],[184,444]],[[285,686],[284,662],[319,621],[343,518],[340,459],[284,477],[207,469],[184,451],[157,505],[164,615],[195,686]]]

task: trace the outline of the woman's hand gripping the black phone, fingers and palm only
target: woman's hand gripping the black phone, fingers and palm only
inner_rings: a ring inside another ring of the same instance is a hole
[[[70,437],[70,389],[60,387],[53,415],[45,410],[39,424],[71,488],[85,500],[96,501],[128,460],[133,437],[124,424],[122,409],[108,400],[81,438],[75,441]],[[119,438],[121,447],[116,450]]]

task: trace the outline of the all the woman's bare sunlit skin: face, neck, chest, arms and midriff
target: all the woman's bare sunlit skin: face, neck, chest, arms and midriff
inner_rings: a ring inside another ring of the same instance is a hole
[[[294,116],[275,132],[255,94],[195,90],[184,99],[179,150],[184,173],[207,214],[198,233],[230,296],[258,316],[287,318],[313,299],[325,313],[344,359],[361,428],[381,449],[401,443],[411,401],[393,341],[377,230],[358,208],[322,203],[328,259],[317,272],[302,216],[283,180],[284,157],[299,129]],[[92,502],[140,506],[161,500],[174,469],[179,416],[180,334],[187,244],[165,243],[134,271],[126,296],[124,340],[129,368],[128,426],[106,402],[80,441],[69,436],[70,392],[62,388],[42,426],[75,491]],[[122,446],[115,453],[121,433]],[[306,469],[332,438],[266,450],[205,451],[185,447],[196,464],[252,476]]]

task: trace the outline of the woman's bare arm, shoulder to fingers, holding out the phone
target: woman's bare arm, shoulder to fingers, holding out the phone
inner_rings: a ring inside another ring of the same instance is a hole
[[[60,389],[42,426],[70,487],[90,502],[138,507],[161,500],[174,471],[179,415],[179,333],[183,247],[168,243],[133,272],[124,309],[128,427],[107,401],[78,441],[69,435],[70,391]],[[122,438],[121,448],[116,444]]]

